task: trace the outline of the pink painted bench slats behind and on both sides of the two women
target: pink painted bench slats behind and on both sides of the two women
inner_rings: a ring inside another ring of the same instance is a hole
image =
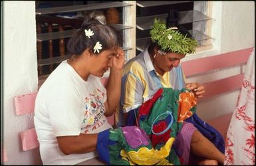
[[[213,69],[220,69],[223,67],[229,67],[231,65],[243,64],[247,62],[249,54],[251,53],[252,48],[248,48],[245,50],[239,50],[237,52],[229,52],[226,54],[220,54],[217,56],[211,56],[207,58],[200,58],[198,60],[190,60],[188,62],[182,62],[182,67],[184,68],[184,73],[187,77],[190,77],[194,74],[205,73],[207,71]],[[212,63],[215,62],[215,63]],[[200,64],[200,65],[195,65]],[[193,66],[193,67],[191,67]],[[102,83],[105,85],[107,79],[103,78]],[[231,77],[227,77],[225,79],[219,79],[215,81],[211,81],[209,83],[203,84],[205,86],[205,98],[219,95],[221,93],[225,93],[227,91],[232,91],[234,89],[239,89],[242,85],[243,81],[243,73],[239,75],[234,75]],[[214,91],[212,89],[215,89]],[[26,95],[19,95],[15,97],[15,109],[17,115],[23,115],[34,112],[35,107],[35,97],[37,96],[37,91],[34,93],[29,93]],[[207,120],[207,122],[219,130],[219,132],[224,136],[227,132],[227,128],[229,126],[229,122],[231,120],[232,113],[225,114],[223,116],[213,118],[211,120]],[[108,117],[108,122],[114,125],[114,114]],[[27,151],[30,149],[35,149],[39,147],[39,142],[37,141],[37,134],[35,132],[35,128],[31,128],[29,130],[25,130],[21,132],[21,142],[23,151]],[[89,163],[98,163],[101,162],[97,159],[88,161]],[[90,164],[92,164],[90,163]],[[98,165],[97,164],[97,165]]]

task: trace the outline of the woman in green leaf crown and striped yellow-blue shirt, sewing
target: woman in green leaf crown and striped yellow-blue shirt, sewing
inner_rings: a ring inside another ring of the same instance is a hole
[[[170,11],[166,23],[155,20],[150,30],[152,43],[144,52],[126,63],[122,76],[118,125],[134,125],[138,107],[151,99],[160,88],[186,87],[195,97],[203,97],[205,90],[202,85],[184,81],[180,60],[186,54],[194,53],[197,43],[177,23],[175,11]],[[122,112],[124,116],[120,116]],[[201,158],[197,164],[223,164],[224,154],[190,122],[184,122],[174,142],[174,149],[184,165],[191,162],[190,154]]]

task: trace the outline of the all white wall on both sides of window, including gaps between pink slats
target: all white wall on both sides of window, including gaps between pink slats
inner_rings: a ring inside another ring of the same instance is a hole
[[[249,1],[213,1],[212,36],[214,48],[190,58],[214,56],[224,52],[254,46],[255,5]],[[35,27],[35,1],[4,1],[3,4],[3,146],[7,152],[7,165],[40,164],[39,149],[22,151],[19,132],[33,128],[33,114],[15,115],[13,98],[37,90],[37,52]],[[233,75],[241,67],[191,77],[207,81]],[[239,71],[238,71],[239,70]],[[203,119],[219,116],[233,110],[238,91],[213,97],[198,104]]]

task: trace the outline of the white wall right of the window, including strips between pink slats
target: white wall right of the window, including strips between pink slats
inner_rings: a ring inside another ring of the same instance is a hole
[[[183,62],[225,52],[243,50],[255,46],[255,2],[254,1],[211,1],[211,36],[213,49],[188,56]],[[188,82],[206,83],[237,75],[244,71],[245,65],[235,65],[216,69],[203,75],[188,77]],[[215,118],[232,112],[239,89],[198,102],[197,114],[203,119]]]

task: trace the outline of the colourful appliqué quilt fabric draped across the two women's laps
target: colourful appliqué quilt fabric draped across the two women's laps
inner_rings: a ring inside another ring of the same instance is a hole
[[[188,89],[159,89],[142,104],[138,126],[125,126],[98,134],[99,158],[110,165],[181,165],[173,143],[196,101]]]

